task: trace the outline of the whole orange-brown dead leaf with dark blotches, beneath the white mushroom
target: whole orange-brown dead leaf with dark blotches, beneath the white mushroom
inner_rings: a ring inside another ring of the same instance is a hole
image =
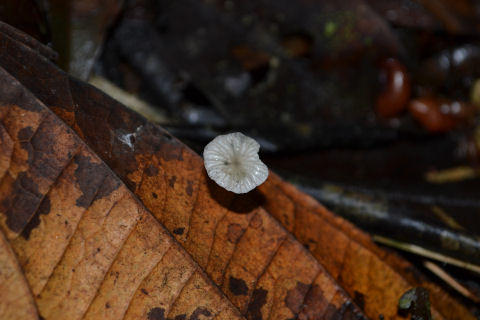
[[[0,225],[13,288],[45,319],[396,319],[418,285],[436,319],[474,319],[274,174],[219,188],[167,132],[5,33],[0,67]]]

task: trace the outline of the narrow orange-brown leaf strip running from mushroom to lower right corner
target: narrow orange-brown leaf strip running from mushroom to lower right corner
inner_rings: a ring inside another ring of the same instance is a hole
[[[309,248],[366,314],[394,316],[398,295],[422,286],[430,292],[435,318],[474,319],[410,263],[380,249],[368,235],[278,176],[272,175],[261,190],[267,210]]]

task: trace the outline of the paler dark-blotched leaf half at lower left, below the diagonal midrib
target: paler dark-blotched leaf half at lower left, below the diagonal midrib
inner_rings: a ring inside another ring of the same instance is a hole
[[[35,303],[44,319],[242,318],[68,126],[0,79],[2,319],[36,319]]]

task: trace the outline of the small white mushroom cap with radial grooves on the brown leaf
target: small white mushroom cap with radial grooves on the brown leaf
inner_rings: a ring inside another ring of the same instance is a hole
[[[240,132],[220,135],[203,150],[207,174],[228,191],[247,193],[268,177],[258,150],[260,145]]]

